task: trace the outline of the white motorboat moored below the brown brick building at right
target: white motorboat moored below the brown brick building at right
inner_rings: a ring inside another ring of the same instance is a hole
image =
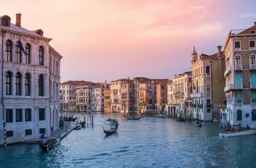
[[[256,133],[256,129],[253,126],[247,127],[233,127],[224,130],[223,132],[219,133],[221,137],[234,137],[234,136],[245,136],[245,135],[252,135]]]

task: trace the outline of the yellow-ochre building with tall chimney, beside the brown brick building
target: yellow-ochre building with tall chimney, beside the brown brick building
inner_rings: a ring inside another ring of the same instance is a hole
[[[217,46],[218,52],[212,55],[198,55],[194,47],[191,54],[192,88],[194,118],[199,114],[201,120],[212,121],[220,113],[219,105],[225,98],[225,81],[223,73],[225,71],[225,52],[221,51],[221,46]]]

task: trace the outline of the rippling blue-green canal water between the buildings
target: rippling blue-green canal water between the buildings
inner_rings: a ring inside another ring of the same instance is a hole
[[[118,119],[117,134],[104,134],[102,127],[111,127],[108,118]],[[54,150],[41,151],[36,144],[0,147],[0,167],[254,167],[256,136],[224,138],[219,131],[216,123],[200,128],[168,118],[127,121],[123,114],[94,113],[93,127],[89,120]]]

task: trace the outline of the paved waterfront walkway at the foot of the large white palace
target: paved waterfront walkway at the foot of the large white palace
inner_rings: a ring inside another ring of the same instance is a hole
[[[75,123],[68,123],[68,130],[66,131],[66,127],[64,126],[63,129],[57,129],[57,130],[53,130],[53,135],[51,135],[50,137],[47,137],[48,140],[52,140],[52,139],[56,139],[59,135],[60,135],[60,139],[62,139],[63,137],[65,137],[67,134],[69,134],[71,131],[73,131],[74,129],[74,125]],[[39,143],[40,141],[42,141],[41,138],[37,138],[37,139],[29,139],[26,140],[26,143]]]

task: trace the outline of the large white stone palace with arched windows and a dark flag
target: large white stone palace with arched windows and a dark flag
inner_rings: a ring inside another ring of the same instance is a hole
[[[0,17],[0,118],[6,122],[7,143],[50,136],[50,127],[59,125],[59,71],[61,55],[43,36],[42,30],[21,27],[8,15]],[[22,43],[24,51],[19,46]],[[24,53],[26,52],[26,54]],[[0,145],[4,144],[3,127]]]

